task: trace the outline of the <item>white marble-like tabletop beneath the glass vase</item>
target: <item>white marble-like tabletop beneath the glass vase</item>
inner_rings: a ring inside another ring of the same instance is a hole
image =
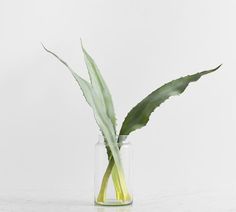
[[[63,193],[63,195],[62,195]],[[236,191],[225,186],[218,189],[195,191],[162,191],[142,194],[131,206],[94,206],[86,194],[71,191],[47,192],[18,191],[17,194],[0,195],[1,212],[234,212]],[[59,197],[60,196],[60,197]],[[63,197],[62,197],[63,196]]]

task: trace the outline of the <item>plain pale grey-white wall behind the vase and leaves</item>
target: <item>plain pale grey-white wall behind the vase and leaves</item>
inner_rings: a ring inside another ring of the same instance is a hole
[[[130,136],[134,192],[142,199],[233,188],[235,9],[233,0],[1,0],[2,193],[67,192],[76,199],[83,192],[92,202],[99,131],[72,76],[40,44],[88,78],[80,38],[109,85],[120,124],[163,83],[223,63]]]

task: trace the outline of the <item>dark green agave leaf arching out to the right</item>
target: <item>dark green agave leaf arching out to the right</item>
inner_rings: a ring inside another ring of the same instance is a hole
[[[164,101],[171,96],[183,93],[189,83],[199,80],[203,75],[216,71],[220,66],[212,70],[181,77],[153,91],[128,113],[122,124],[120,135],[128,136],[131,132],[144,127],[148,123],[151,113]],[[124,139],[124,137],[119,139],[119,142]]]

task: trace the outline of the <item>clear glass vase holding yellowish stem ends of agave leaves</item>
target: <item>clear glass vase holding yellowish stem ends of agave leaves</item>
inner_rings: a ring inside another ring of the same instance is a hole
[[[130,205],[133,202],[132,146],[126,139],[118,147],[122,164],[120,169],[116,167],[110,148],[104,142],[103,136],[99,136],[95,145],[95,204],[122,206]]]

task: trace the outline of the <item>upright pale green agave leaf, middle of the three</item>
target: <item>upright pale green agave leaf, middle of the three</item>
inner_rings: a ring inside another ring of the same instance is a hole
[[[101,98],[101,101],[104,104],[104,107],[106,108],[106,112],[108,117],[111,119],[114,130],[116,128],[116,116],[115,116],[115,110],[113,106],[113,101],[111,97],[111,93],[95,63],[93,58],[88,54],[88,52],[83,47],[82,41],[81,41],[81,47],[84,53],[84,59],[85,63],[88,69],[90,81],[93,87],[93,90],[96,92],[96,94]]]

